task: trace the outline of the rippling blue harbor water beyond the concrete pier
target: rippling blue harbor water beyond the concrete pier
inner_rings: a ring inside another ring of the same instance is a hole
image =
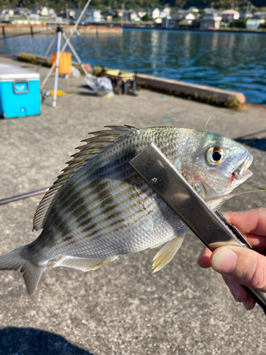
[[[52,38],[8,38],[0,51],[44,55]],[[266,34],[125,28],[121,36],[73,35],[71,42],[91,65],[243,92],[248,102],[266,105]]]

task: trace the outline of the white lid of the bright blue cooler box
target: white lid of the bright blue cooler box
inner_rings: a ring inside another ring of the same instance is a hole
[[[0,63],[0,81],[21,80],[21,79],[40,79],[38,72],[28,70],[16,65]]]

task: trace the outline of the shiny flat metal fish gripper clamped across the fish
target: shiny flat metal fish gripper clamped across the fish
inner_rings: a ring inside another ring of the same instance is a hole
[[[225,245],[251,248],[239,231],[242,238],[228,229],[155,143],[150,143],[129,163],[211,251]],[[266,314],[265,293],[242,287]]]

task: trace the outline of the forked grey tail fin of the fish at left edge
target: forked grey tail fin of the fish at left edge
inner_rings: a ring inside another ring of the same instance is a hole
[[[33,294],[35,291],[35,288],[38,286],[40,276],[43,274],[45,266],[47,265],[47,261],[45,263],[38,264],[33,263],[24,257],[26,254],[25,249],[27,249],[30,245],[31,244],[21,246],[21,248],[0,256],[0,270],[21,269],[29,295]]]

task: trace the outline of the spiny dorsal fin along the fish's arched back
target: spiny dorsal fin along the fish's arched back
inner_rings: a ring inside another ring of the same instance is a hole
[[[67,179],[70,178],[70,175],[72,175],[74,171],[82,166],[85,161],[98,154],[99,151],[101,151],[101,149],[107,146],[109,143],[128,133],[138,131],[138,129],[131,126],[105,127],[109,128],[109,130],[89,133],[93,134],[94,137],[87,138],[82,141],[86,142],[86,144],[77,148],[79,149],[79,152],[72,155],[73,159],[67,162],[68,166],[62,170],[62,174],[58,176],[55,183],[52,185],[52,187],[50,187],[48,192],[46,192],[33,217],[33,231],[38,231],[38,229],[43,228],[45,218],[48,215],[50,207],[52,206],[52,202],[54,202],[57,193],[65,185]]]

